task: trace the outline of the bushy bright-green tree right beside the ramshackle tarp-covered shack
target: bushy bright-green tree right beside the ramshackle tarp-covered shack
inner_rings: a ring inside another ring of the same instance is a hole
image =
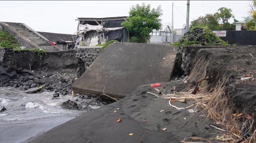
[[[131,42],[147,43],[150,41],[150,33],[153,32],[153,29],[161,29],[161,5],[152,10],[150,4],[133,5],[129,14],[130,16],[126,18],[127,21],[121,25],[131,33]]]

